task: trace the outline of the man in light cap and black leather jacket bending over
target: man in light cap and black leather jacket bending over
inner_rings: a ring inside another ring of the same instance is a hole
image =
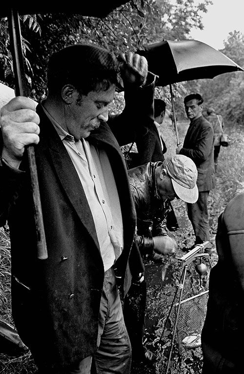
[[[197,168],[182,154],[158,162],[148,162],[128,170],[129,183],[137,213],[137,232],[129,258],[132,286],[124,300],[124,320],[132,346],[132,359],[155,361],[157,356],[143,345],[146,308],[146,282],[143,257],[154,260],[175,252],[176,242],[169,237],[166,216],[169,202],[181,198],[187,203],[198,199]],[[135,302],[135,298],[137,301]]]

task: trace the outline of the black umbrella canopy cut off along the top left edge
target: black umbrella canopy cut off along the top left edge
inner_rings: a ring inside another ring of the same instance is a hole
[[[118,6],[125,4],[128,0],[91,0],[76,1],[71,4],[66,2],[52,1],[2,1],[0,6],[0,17],[7,17],[10,9],[15,8],[20,15],[41,13],[66,13],[81,14],[82,16],[105,17]]]

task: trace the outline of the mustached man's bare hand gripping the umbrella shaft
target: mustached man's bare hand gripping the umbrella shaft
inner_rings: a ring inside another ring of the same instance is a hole
[[[3,137],[2,158],[12,167],[18,168],[24,148],[39,143],[40,118],[35,102],[18,96],[1,108],[0,127]]]

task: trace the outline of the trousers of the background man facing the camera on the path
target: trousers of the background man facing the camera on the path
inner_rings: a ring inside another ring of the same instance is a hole
[[[187,203],[188,218],[192,223],[194,234],[196,236],[195,244],[208,241],[210,239],[207,198],[209,191],[199,192],[197,202]]]

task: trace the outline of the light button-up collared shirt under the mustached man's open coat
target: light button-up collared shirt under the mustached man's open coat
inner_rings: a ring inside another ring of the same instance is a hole
[[[121,206],[108,156],[104,150],[99,150],[83,138],[75,141],[43,106],[42,108],[58,132],[81,180],[106,271],[120,256],[123,247]]]

